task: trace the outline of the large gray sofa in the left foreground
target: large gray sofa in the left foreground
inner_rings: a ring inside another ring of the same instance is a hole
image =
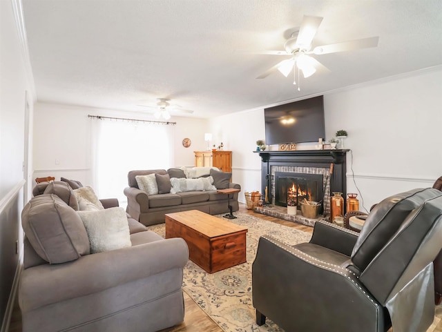
[[[164,240],[132,219],[128,246],[90,253],[88,233],[71,206],[72,189],[55,184],[23,208],[23,332],[146,332],[182,322],[184,240]]]

